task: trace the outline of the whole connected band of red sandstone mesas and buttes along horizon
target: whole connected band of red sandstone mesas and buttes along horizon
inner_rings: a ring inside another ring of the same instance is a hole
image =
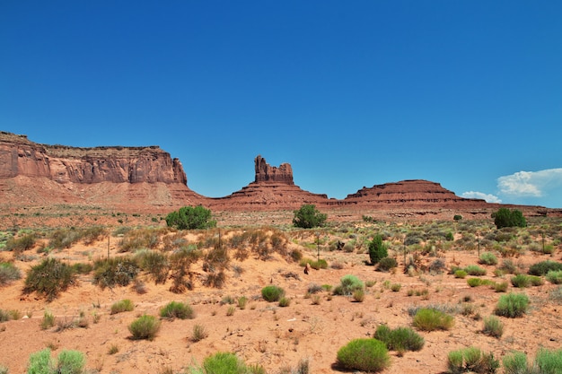
[[[159,146],[78,148],[31,142],[0,132],[0,194],[4,212],[54,204],[91,206],[123,213],[169,213],[203,205],[215,213],[292,212],[315,204],[339,220],[480,219],[500,206],[456,196],[439,183],[403,180],[363,187],[344,199],[329,198],[294,184],[291,165],[255,159],[255,179],[224,197],[206,197],[188,187],[180,160]],[[528,216],[559,216],[560,209],[517,205]]]

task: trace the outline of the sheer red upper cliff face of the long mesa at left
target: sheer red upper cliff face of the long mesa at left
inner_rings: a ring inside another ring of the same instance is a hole
[[[181,162],[158,146],[76,148],[35,144],[0,133],[0,178],[49,178],[58,183],[181,183]]]

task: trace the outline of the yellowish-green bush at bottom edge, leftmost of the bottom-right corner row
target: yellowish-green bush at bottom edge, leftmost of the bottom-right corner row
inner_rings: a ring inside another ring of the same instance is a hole
[[[493,374],[499,368],[499,361],[492,352],[485,353],[479,348],[468,347],[447,355],[447,369],[452,374],[472,372],[478,374]]]

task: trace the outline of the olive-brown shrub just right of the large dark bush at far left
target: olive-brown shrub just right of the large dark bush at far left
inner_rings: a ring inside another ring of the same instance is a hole
[[[136,261],[131,257],[111,257],[93,263],[93,284],[101,289],[127,286],[139,272]]]

